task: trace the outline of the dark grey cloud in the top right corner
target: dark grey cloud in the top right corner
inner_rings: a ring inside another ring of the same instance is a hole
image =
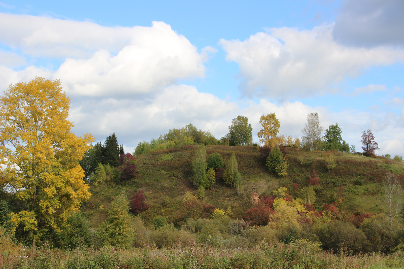
[[[403,46],[403,11],[402,0],[345,0],[332,36],[345,45]]]

